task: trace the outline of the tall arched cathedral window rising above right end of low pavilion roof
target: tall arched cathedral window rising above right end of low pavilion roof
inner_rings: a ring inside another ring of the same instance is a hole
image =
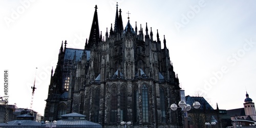
[[[94,122],[99,122],[99,96],[100,96],[100,89],[97,88],[94,95]]]

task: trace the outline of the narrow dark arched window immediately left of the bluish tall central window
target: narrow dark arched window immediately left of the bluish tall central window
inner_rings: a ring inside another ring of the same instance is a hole
[[[134,87],[134,96],[133,96],[133,110],[134,110],[134,113],[133,113],[133,117],[134,117],[134,122],[139,122],[139,90],[138,90],[138,87]]]

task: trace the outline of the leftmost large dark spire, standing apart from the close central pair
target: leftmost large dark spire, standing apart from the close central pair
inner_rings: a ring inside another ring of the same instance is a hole
[[[93,16],[93,23],[92,23],[92,28],[90,32],[90,37],[88,41],[89,48],[93,43],[98,44],[100,41],[100,35],[99,35],[99,23],[98,23],[98,13],[97,13],[97,5],[95,5],[95,12]]]

